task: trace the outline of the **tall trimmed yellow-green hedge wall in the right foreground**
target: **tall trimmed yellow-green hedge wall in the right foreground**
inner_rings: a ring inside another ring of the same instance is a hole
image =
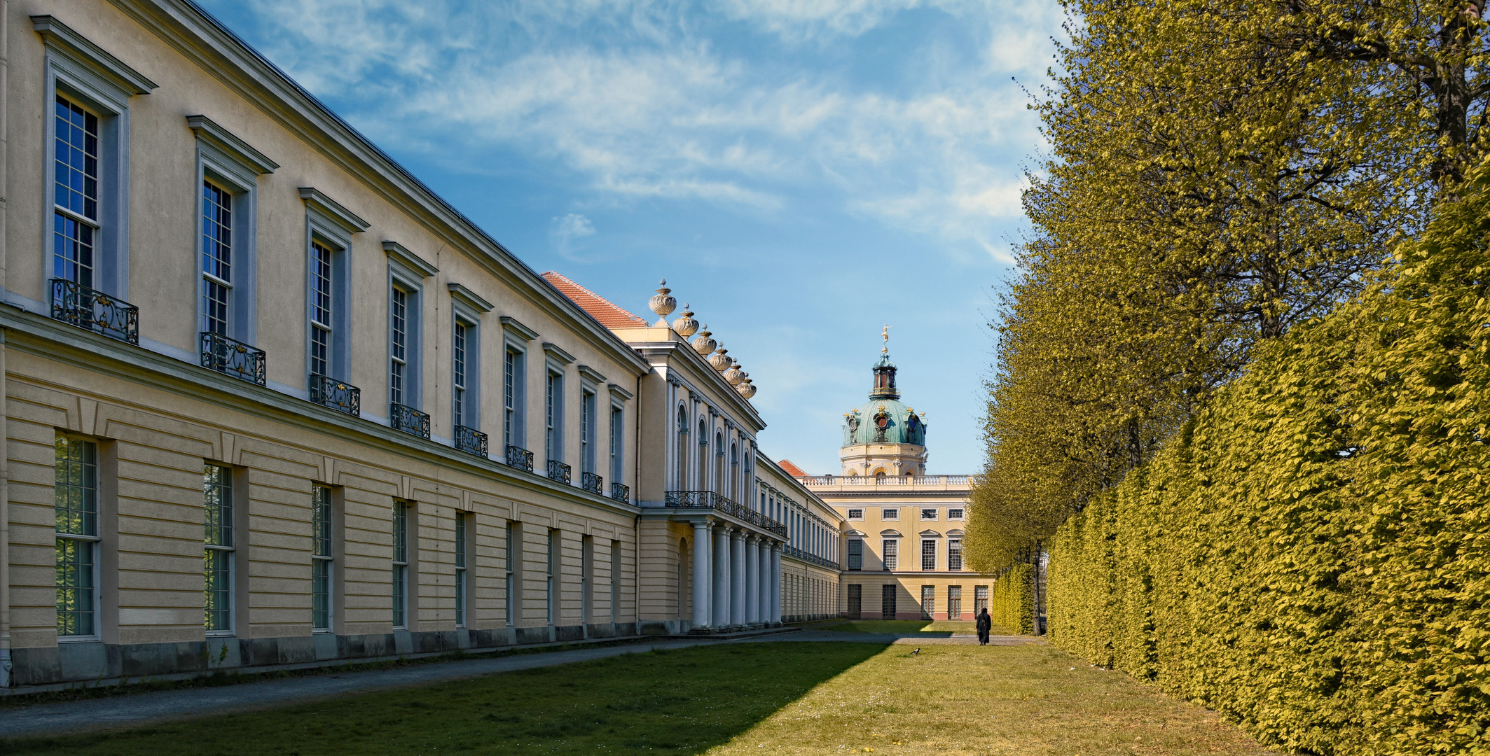
[[[1050,545],[1052,641],[1314,755],[1490,753],[1486,173]]]

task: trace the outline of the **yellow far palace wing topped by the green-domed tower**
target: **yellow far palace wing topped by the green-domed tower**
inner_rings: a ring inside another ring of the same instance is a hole
[[[843,519],[842,610],[854,619],[973,619],[995,576],[963,563],[967,475],[927,475],[924,412],[900,400],[890,336],[869,402],[843,414],[842,475],[782,463]]]

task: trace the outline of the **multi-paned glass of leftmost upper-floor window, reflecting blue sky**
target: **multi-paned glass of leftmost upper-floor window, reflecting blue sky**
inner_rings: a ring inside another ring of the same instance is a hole
[[[52,277],[94,287],[100,231],[98,116],[57,95],[55,119]]]

